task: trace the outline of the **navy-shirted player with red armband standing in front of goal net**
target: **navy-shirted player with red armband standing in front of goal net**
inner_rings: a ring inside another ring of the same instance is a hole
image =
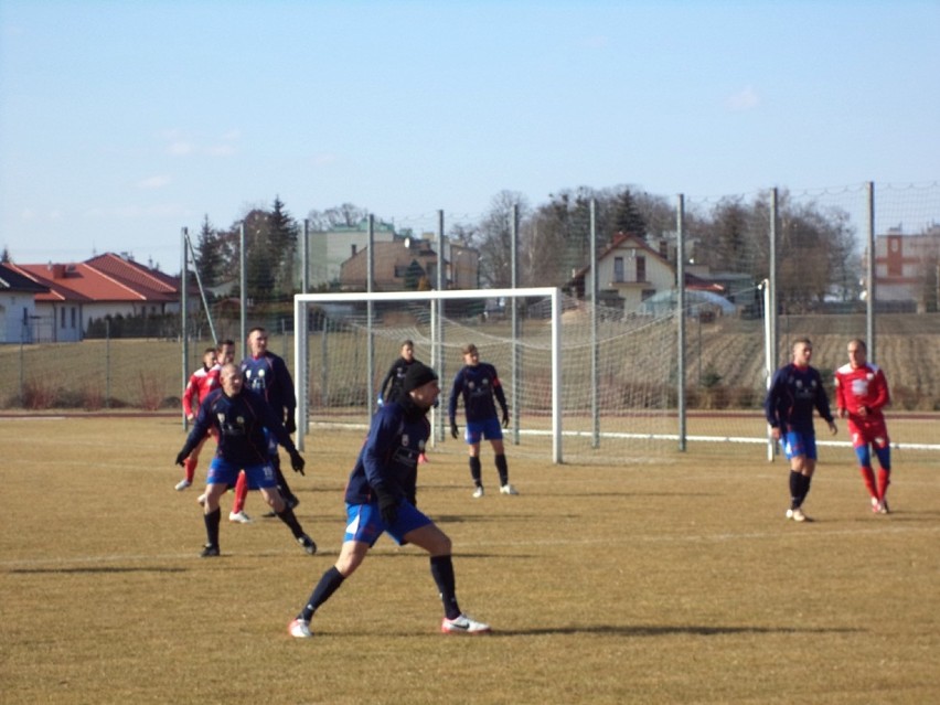
[[[480,441],[487,439],[493,447],[496,472],[500,474],[500,493],[519,494],[509,482],[509,463],[506,463],[503,446],[503,431],[496,417],[496,406],[502,409],[502,428],[509,426],[509,406],[506,395],[500,384],[496,368],[488,362],[480,362],[477,345],[470,343],[463,348],[463,367],[453,377],[447,409],[450,416],[450,435],[458,437],[457,399],[463,399],[463,412],[467,415],[467,428],[463,438],[470,452],[470,477],[473,479],[473,496],[483,496],[483,478],[480,466]]]

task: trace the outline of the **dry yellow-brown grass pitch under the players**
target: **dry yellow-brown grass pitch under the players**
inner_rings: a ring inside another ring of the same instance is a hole
[[[427,558],[383,537],[302,641],[286,627],[335,559],[362,432],[314,432],[289,478],[312,558],[257,493],[255,523],[223,521],[222,557],[199,558],[200,490],[173,491],[183,439],[169,417],[0,418],[4,704],[940,702],[933,453],[896,452],[880,516],[852,451],[821,448],[815,521],[795,524],[786,463],[759,447],[598,467],[509,446],[519,496],[484,449],[472,500],[448,441],[418,504],[493,633],[439,633]]]

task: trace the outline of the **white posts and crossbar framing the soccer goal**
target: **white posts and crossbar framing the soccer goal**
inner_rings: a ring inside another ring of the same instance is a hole
[[[298,293],[293,297],[293,385],[297,396],[297,447],[305,448],[307,428],[308,402],[308,340],[307,340],[307,308],[311,303],[372,303],[375,301],[448,301],[457,299],[520,299],[525,297],[543,297],[552,301],[552,461],[563,462],[562,457],[562,296],[557,287],[530,287],[521,289],[448,289],[444,291],[377,291],[352,293]],[[439,308],[431,307],[432,352],[431,366],[439,370],[442,360],[441,323]],[[371,313],[371,309],[370,309]],[[437,321],[437,322],[436,322]],[[372,321],[368,321],[372,324]],[[438,420],[432,415],[432,425]],[[431,429],[431,438],[435,438]]]

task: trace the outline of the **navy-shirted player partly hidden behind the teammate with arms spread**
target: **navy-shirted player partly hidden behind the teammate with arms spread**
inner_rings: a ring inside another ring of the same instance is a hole
[[[242,361],[242,376],[245,385],[260,394],[270,405],[288,434],[297,430],[293,419],[297,397],[293,394],[293,380],[284,357],[268,350],[268,334],[257,327],[248,331],[248,351],[250,355]],[[277,477],[277,487],[290,509],[300,504],[300,500],[290,491],[287,479],[280,469],[277,444],[271,444],[271,464]],[[271,516],[268,514],[268,516]]]

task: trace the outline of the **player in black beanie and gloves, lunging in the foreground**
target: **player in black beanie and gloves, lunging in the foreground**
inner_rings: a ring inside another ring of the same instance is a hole
[[[310,619],[365,559],[368,549],[387,533],[399,545],[408,543],[430,555],[430,570],[444,601],[445,633],[476,634],[488,624],[460,611],[455,594],[451,543],[437,524],[415,506],[418,455],[430,435],[428,409],[440,394],[437,374],[419,362],[410,365],[397,399],[372,418],[368,437],[346,484],[346,531],[337,563],[288,626],[291,637],[309,639]]]

